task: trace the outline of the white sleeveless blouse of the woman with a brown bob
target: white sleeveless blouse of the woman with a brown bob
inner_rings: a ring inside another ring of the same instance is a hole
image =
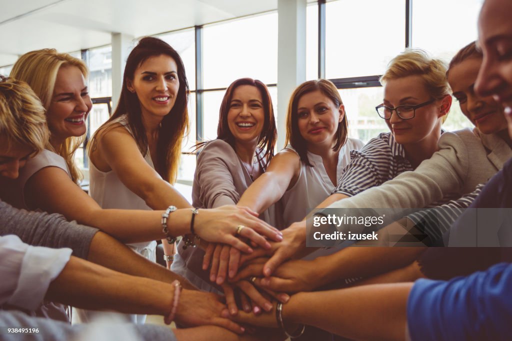
[[[350,151],[358,151],[364,145],[358,139],[347,138],[347,142],[339,150],[336,179],[343,175],[345,166],[350,163]],[[291,145],[287,145],[285,149],[296,153]],[[311,152],[307,153],[309,162],[313,166],[308,166],[301,161],[301,174],[298,176],[297,182],[281,198],[284,208],[284,224],[287,227],[294,222],[303,220],[312,208],[331,195],[337,185],[331,182],[322,157]]]

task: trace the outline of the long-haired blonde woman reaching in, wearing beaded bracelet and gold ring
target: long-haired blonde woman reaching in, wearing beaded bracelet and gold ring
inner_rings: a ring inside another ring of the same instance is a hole
[[[181,204],[179,198],[166,198],[160,205],[175,204],[183,209],[177,209],[176,206],[162,207],[159,211],[102,209],[84,193],[73,182],[63,157],[53,152],[63,150],[62,144],[71,137],[80,137],[86,132],[84,120],[92,103],[87,93],[84,73],[76,66],[80,63],[68,54],[49,49],[29,52],[15,63],[13,76],[27,77],[29,85],[41,91],[41,94],[36,94],[44,98],[48,105],[45,108],[50,140],[45,150],[27,160],[18,179],[0,188],[2,197],[11,192],[17,196],[13,202],[18,207],[60,213],[68,220],[97,227],[124,243],[147,245],[164,238],[172,241],[173,237],[192,232],[206,241],[226,242],[240,247],[244,252],[251,252],[252,249],[236,237],[248,237],[262,247],[269,247],[269,244],[258,232],[279,241],[279,231],[243,207],[231,206],[191,212],[186,209],[190,206],[186,201]],[[48,88],[53,89],[49,98],[45,97]],[[125,140],[124,143],[126,146],[130,145]],[[132,142],[133,145],[138,155],[141,155],[135,142]],[[136,156],[132,154],[130,158],[134,159]],[[161,181],[165,185],[166,182]],[[168,183],[167,186],[170,187]],[[191,219],[193,217],[195,220]],[[211,229],[204,230],[206,226]],[[145,255],[150,258],[151,253],[147,252]]]

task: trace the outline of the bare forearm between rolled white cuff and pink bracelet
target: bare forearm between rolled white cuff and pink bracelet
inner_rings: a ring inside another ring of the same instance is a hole
[[[46,298],[83,309],[164,315],[172,307],[173,292],[170,284],[72,257],[50,284]]]

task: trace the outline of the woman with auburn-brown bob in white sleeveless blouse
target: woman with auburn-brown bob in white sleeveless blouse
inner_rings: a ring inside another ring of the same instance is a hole
[[[238,204],[262,212],[281,199],[284,226],[304,219],[309,208],[331,194],[350,161],[350,151],[363,145],[347,137],[347,125],[345,106],[331,81],[302,83],[288,104],[287,146],[272,159],[267,172],[244,192]],[[285,242],[291,238],[295,237],[288,236]],[[229,252],[221,255],[211,247],[206,252],[203,268],[213,259],[210,280],[217,284],[224,282],[227,272],[229,278],[237,272],[240,253],[232,250],[227,257]]]

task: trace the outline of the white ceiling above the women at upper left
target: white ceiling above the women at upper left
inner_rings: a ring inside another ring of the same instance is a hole
[[[0,66],[28,51],[107,45],[277,9],[277,0],[0,0]]]

